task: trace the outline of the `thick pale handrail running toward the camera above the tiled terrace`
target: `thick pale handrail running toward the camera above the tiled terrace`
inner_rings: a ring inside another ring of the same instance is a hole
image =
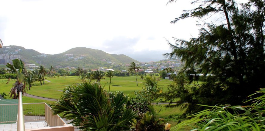
[[[17,131],[25,131],[23,103],[22,103],[22,92],[19,92],[19,94],[18,94],[18,124],[17,124]]]

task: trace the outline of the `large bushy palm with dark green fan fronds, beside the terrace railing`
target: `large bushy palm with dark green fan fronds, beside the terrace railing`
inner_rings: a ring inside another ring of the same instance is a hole
[[[67,87],[52,111],[62,113],[62,117],[72,120],[70,123],[81,130],[130,130],[139,116],[132,108],[124,108],[125,102],[122,92],[107,93],[99,83],[84,82]]]

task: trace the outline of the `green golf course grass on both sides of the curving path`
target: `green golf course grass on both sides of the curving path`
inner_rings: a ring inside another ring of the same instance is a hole
[[[156,76],[158,78],[158,76]],[[36,95],[36,96],[41,96],[41,97],[46,97],[46,98],[52,98],[52,99],[60,99],[60,96],[62,95],[62,91],[64,88],[66,88],[69,85],[73,85],[76,83],[82,83],[81,79],[79,79],[77,76],[70,76],[66,77],[56,77],[56,78],[48,78],[46,77],[46,80],[50,81],[47,82],[45,81],[45,85],[40,85],[40,82],[36,82],[31,87],[31,90],[28,90],[27,93]],[[87,79],[86,79],[87,80]],[[102,79],[100,81],[101,85],[105,85],[105,89],[108,90],[109,88],[109,78],[105,77],[105,80]],[[111,86],[110,86],[110,91],[122,91],[124,94],[134,94],[134,91],[140,91],[142,90],[142,87],[144,85],[140,76],[137,76],[137,81],[138,81],[138,86],[136,85],[136,80],[135,76],[131,77],[113,77],[111,79]],[[7,94],[10,92],[10,89],[12,88],[13,83],[15,83],[14,80],[11,80],[9,84],[6,84],[7,79],[0,79],[0,93],[6,92]],[[94,82],[94,81],[91,81]],[[172,80],[166,80],[166,79],[160,79],[158,81],[158,87],[162,87],[163,91],[167,90],[167,86],[169,85],[169,82],[172,82]],[[116,87],[113,85],[119,85],[120,87]],[[34,99],[30,98],[27,96],[23,97],[23,103],[39,103],[39,102],[46,102],[47,104],[53,103],[53,101],[45,101],[45,100],[40,100],[40,99]],[[25,110],[24,113],[31,112],[31,107],[26,107],[27,109]],[[183,112],[180,111],[178,108],[165,108],[165,107],[159,107],[155,106],[156,110],[162,110],[158,114],[159,117],[166,118],[166,122],[172,124],[171,126],[173,127],[174,125],[177,124],[177,121],[171,121],[172,119],[168,119],[168,116],[175,116],[175,115],[180,115]],[[33,111],[32,111],[33,112]],[[180,131],[186,131],[186,130],[191,130],[191,128],[184,127]]]

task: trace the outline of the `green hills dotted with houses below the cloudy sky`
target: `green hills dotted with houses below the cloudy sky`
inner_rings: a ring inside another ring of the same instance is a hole
[[[7,48],[6,48],[7,47]],[[0,54],[4,54],[3,50],[9,50],[9,52],[15,52],[15,50],[20,51],[17,54],[21,55],[21,60],[25,63],[36,64],[37,60],[41,61],[41,65],[44,67],[49,66],[76,66],[76,67],[85,67],[85,68],[98,68],[101,66],[107,66],[109,63],[130,63],[130,62],[138,62],[124,54],[108,54],[101,50],[85,48],[85,47],[77,47],[72,48],[66,52],[60,54],[46,54],[46,57],[40,56],[42,55],[40,52],[37,52],[33,49],[25,49],[21,46],[4,46],[0,49]],[[65,55],[65,54],[73,54],[73,56]],[[102,61],[105,59],[106,61]]]

